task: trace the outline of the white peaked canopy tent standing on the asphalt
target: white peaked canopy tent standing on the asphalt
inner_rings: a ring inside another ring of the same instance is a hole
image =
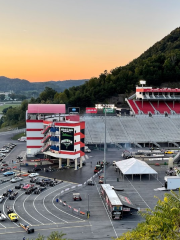
[[[136,158],[129,158],[127,160],[122,160],[116,162],[117,168],[119,168],[119,172],[122,173],[123,179],[124,175],[132,175],[132,180],[133,180],[133,175],[140,175],[140,180],[141,180],[141,175],[148,174],[149,179],[150,175],[154,174],[158,178],[158,173],[151,168],[146,162],[138,160]]]

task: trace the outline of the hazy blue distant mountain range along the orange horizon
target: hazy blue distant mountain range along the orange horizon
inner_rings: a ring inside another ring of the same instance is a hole
[[[80,86],[89,79],[48,81],[48,82],[29,82],[24,79],[0,77],[0,91],[7,92],[12,90],[14,93],[23,93],[26,91],[44,91],[45,87],[50,87],[57,92],[63,92],[66,88]]]

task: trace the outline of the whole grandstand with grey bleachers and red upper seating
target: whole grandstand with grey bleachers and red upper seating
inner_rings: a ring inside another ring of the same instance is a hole
[[[180,146],[180,89],[136,87],[126,99],[133,116],[106,116],[106,142]],[[86,144],[104,143],[105,117],[83,117]]]

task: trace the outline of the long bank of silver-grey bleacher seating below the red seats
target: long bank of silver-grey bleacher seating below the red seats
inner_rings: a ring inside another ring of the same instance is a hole
[[[85,143],[104,144],[105,119],[83,118]],[[107,143],[180,142],[180,117],[106,117]]]

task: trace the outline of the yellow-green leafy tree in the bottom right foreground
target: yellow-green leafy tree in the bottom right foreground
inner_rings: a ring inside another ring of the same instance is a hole
[[[180,239],[180,189],[178,193],[165,193],[164,200],[158,199],[154,210],[140,214],[145,221],[117,240]]]

